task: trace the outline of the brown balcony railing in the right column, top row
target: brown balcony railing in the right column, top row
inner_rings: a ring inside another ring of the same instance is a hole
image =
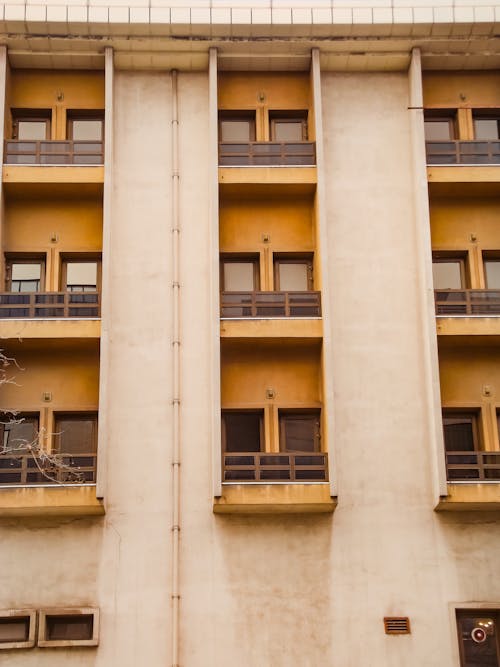
[[[500,141],[426,141],[427,164],[500,164]]]

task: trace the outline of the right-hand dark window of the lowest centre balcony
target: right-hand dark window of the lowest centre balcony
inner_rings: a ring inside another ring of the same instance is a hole
[[[320,411],[279,411],[280,450],[283,452],[320,451]]]

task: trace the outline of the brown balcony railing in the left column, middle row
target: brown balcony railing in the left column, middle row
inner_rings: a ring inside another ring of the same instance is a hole
[[[0,292],[0,319],[99,317],[99,292]]]

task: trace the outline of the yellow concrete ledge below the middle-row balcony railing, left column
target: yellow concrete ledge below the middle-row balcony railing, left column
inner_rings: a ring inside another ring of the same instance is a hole
[[[101,320],[2,319],[0,339],[100,338]]]

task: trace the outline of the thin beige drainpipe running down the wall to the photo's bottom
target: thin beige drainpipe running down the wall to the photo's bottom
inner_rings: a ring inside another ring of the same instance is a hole
[[[172,70],[172,667],[179,666],[180,552],[180,275],[179,117],[177,70]]]

